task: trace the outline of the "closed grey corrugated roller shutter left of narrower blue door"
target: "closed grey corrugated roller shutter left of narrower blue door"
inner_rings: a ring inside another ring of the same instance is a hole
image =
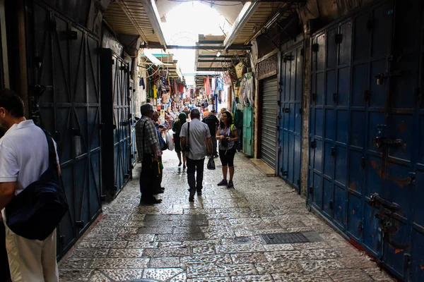
[[[276,167],[276,106],[277,77],[266,78],[261,84],[261,159]]]

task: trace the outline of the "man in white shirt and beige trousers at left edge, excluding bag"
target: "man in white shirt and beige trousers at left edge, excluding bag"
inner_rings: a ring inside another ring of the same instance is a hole
[[[46,135],[32,120],[25,120],[22,99],[8,89],[0,91],[0,127],[6,131],[0,139],[0,209],[12,281],[59,281],[56,231],[44,241],[23,238],[8,228],[4,213],[13,197],[47,170]]]

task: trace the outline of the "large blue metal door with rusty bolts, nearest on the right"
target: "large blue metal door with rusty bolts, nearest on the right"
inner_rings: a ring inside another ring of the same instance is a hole
[[[422,6],[381,1],[312,38],[312,207],[404,281],[424,279]]]

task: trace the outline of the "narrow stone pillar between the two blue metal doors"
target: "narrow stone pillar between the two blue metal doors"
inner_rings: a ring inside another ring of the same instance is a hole
[[[305,71],[303,75],[303,99],[302,99],[302,168],[300,172],[302,183],[302,195],[307,193],[307,173],[309,166],[309,106],[310,106],[310,78],[311,78],[311,56],[310,56],[310,35],[305,35],[304,54]]]

